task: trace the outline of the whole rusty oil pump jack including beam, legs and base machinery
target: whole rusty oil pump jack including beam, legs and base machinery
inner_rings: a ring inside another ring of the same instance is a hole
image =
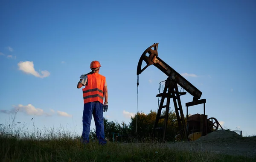
[[[204,136],[212,131],[216,131],[220,124],[218,123],[218,120],[216,120],[214,117],[207,119],[207,115],[205,115],[206,99],[200,99],[202,92],[195,86],[193,86],[189,81],[187,81],[182,75],[177,73],[177,71],[175,71],[172,67],[166,64],[166,62],[161,60],[158,57],[157,48],[158,43],[154,43],[154,45],[148,47],[141,55],[137,65],[137,75],[140,75],[148,66],[154,65],[168,76],[168,78],[165,80],[163,93],[157,94],[157,97],[160,97],[161,100],[157,110],[157,117],[152,132],[153,137],[158,137],[165,140],[171,98],[174,103],[175,114],[177,117],[177,123],[179,128],[178,132],[180,132],[176,135],[175,138],[179,140],[196,140],[199,137]],[[145,61],[146,66],[142,68],[143,61]],[[192,101],[186,103],[187,115],[189,106],[194,106],[202,103],[204,104],[204,114],[195,114],[190,117],[186,116],[187,123],[185,123],[182,104],[180,101],[180,96],[186,95],[186,92],[179,92],[178,85],[193,96]],[[165,98],[167,98],[166,105],[163,105]],[[166,111],[165,115],[161,116],[163,108],[165,108]],[[162,127],[159,127],[160,119],[164,119]],[[161,131],[162,133],[159,133],[159,131]],[[157,134],[162,135],[161,137],[159,137],[159,135],[157,136]]]

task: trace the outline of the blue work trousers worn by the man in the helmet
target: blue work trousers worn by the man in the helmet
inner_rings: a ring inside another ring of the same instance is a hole
[[[92,115],[96,126],[96,136],[99,140],[99,144],[105,144],[103,105],[98,101],[84,103],[82,140],[84,143],[89,142]]]

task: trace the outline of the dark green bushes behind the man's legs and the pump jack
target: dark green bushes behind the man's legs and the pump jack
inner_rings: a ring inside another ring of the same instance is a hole
[[[164,114],[165,112],[163,111],[162,115]],[[131,120],[128,125],[124,121],[118,123],[116,121],[109,121],[108,119],[104,118],[105,137],[109,141],[115,140],[119,142],[150,140],[152,139],[152,132],[156,116],[157,112],[152,110],[148,114],[138,112],[136,115],[134,115],[134,117],[131,117]],[[186,116],[184,118],[186,122]],[[159,126],[163,126],[163,122],[164,119],[160,119]],[[177,135],[178,131],[179,128],[176,113],[170,111],[168,115],[168,124],[166,128],[166,141],[175,140],[175,136]],[[96,130],[94,128],[93,130],[90,131],[90,139],[96,140]]]

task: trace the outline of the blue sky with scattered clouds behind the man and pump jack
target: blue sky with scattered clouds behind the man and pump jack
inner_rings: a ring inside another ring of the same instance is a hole
[[[98,60],[108,82],[104,116],[128,124],[137,110],[138,61],[159,43],[160,59],[207,99],[208,117],[255,135],[255,20],[253,0],[2,0],[0,123],[12,122],[20,108],[15,122],[81,134],[83,100],[76,84]],[[166,78],[153,65],[140,74],[139,112],[157,110],[159,82]],[[184,114],[190,101],[189,93],[181,96]],[[203,105],[189,113],[202,114]]]

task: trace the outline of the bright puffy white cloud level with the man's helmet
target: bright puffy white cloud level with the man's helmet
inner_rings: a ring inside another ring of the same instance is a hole
[[[43,70],[41,71],[42,75],[40,75],[37,71],[35,71],[34,63],[33,61],[20,61],[18,63],[19,70],[23,71],[26,74],[34,75],[38,78],[45,78],[50,75],[49,71]]]

